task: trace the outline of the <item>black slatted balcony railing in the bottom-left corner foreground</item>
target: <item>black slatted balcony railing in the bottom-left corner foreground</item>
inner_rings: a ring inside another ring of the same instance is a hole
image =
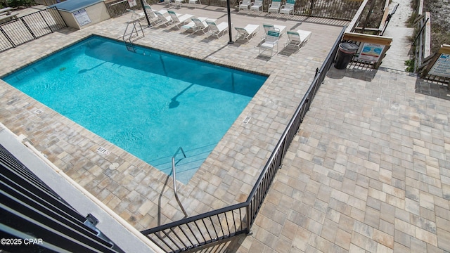
[[[2,239],[6,252],[123,252],[96,228],[94,216],[79,214],[3,145],[0,198],[0,234],[15,242]]]

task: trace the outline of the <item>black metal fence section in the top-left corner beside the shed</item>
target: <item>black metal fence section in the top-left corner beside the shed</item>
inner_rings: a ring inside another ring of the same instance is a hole
[[[0,52],[67,27],[56,7],[0,24]]]

